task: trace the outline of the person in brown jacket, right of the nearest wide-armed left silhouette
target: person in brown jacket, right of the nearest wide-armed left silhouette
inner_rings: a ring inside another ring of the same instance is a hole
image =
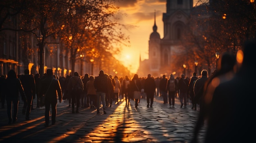
[[[68,82],[68,92],[71,92],[72,98],[72,113],[75,113],[75,104],[76,104],[76,113],[79,113],[79,106],[80,106],[80,97],[83,92],[83,81],[79,77],[77,72],[74,72],[74,76],[70,77]]]

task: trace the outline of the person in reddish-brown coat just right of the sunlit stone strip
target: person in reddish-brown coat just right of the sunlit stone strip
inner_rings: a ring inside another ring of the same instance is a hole
[[[141,94],[140,94],[141,87],[142,85],[141,85],[141,81],[139,80],[139,76],[135,74],[132,77],[132,80],[130,81],[130,90],[133,93],[133,97],[135,99],[135,108],[137,108],[139,104],[139,99],[141,97]]]

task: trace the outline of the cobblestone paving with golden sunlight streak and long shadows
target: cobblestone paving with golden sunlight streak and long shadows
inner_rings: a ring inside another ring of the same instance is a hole
[[[141,99],[139,107],[134,101],[126,105],[121,101],[107,114],[96,114],[95,109],[80,108],[71,113],[68,102],[58,103],[56,124],[45,128],[45,108],[31,111],[31,121],[25,121],[19,105],[17,123],[8,125],[5,109],[0,109],[0,142],[2,143],[189,143],[199,114],[191,109],[163,104],[161,97],[154,99],[153,107],[146,107]],[[35,107],[35,105],[34,105]],[[51,124],[51,121],[50,121]],[[205,127],[200,131],[200,142],[204,139]]]

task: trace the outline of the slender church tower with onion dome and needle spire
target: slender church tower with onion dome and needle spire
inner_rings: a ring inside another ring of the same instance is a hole
[[[154,26],[153,33],[150,34],[149,42],[148,42],[148,63],[150,73],[153,76],[157,76],[160,70],[160,35],[157,33],[157,26],[155,22],[155,14],[154,13]]]

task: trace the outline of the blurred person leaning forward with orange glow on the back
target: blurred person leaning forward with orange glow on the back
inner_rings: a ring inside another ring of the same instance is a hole
[[[234,77],[233,69],[236,63],[234,55],[231,53],[224,53],[220,59],[220,70],[211,75],[204,84],[203,95],[201,97],[202,103],[200,104],[200,114],[194,130],[193,143],[197,142],[199,130],[204,123],[204,119],[207,119],[208,117],[213,92],[216,86]]]

